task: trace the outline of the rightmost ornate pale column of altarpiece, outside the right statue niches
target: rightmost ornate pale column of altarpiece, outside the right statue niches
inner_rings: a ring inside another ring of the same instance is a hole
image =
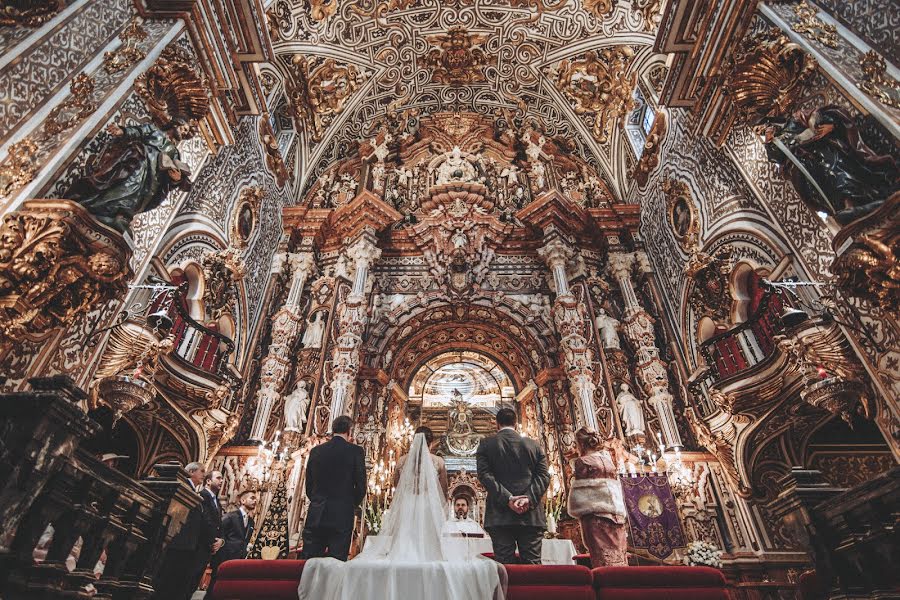
[[[656,347],[656,334],[653,329],[653,317],[640,305],[634,286],[631,283],[631,270],[635,257],[631,254],[610,254],[609,271],[622,291],[625,301],[624,332],[625,336],[637,349],[635,354],[635,371],[637,379],[647,394],[648,402],[659,418],[666,447],[681,445],[681,436],[675,423],[675,412],[672,409],[672,394],[669,392],[669,376],[666,364],[659,358]],[[640,263],[646,265],[646,261]]]

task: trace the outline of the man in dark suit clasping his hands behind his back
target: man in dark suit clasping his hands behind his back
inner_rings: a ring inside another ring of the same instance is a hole
[[[488,492],[484,528],[502,563],[540,564],[544,537],[541,499],[550,484],[547,457],[532,439],[516,432],[516,413],[497,411],[497,435],[481,440],[475,454],[478,479]]]

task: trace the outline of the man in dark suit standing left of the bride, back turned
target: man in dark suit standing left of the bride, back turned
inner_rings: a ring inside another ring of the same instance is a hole
[[[353,513],[366,495],[366,455],[350,443],[350,417],[331,425],[331,440],[316,446],[306,463],[309,510],[303,525],[301,558],[330,556],[347,560]]]

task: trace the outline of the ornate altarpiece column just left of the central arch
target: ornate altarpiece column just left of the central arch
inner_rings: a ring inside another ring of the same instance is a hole
[[[381,257],[375,245],[375,236],[364,232],[347,248],[347,257],[353,261],[356,272],[353,289],[344,303],[338,307],[338,337],[332,359],[330,420],[344,414],[353,393],[353,384],[359,371],[359,352],[366,328],[366,286],[369,269]],[[331,425],[329,424],[329,430]]]

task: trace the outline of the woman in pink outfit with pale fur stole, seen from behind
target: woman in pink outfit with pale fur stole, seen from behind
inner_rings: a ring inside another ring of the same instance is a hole
[[[580,456],[569,493],[568,511],[581,521],[581,536],[592,567],[628,565],[625,501],[618,479],[619,461],[637,460],[618,439],[604,440],[588,427],[575,432]]]

